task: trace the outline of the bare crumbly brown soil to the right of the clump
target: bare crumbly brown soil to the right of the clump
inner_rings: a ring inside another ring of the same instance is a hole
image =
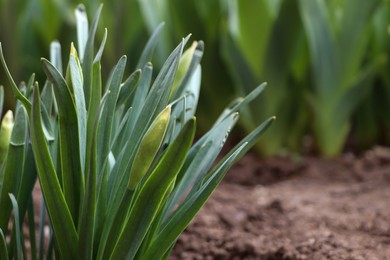
[[[176,259],[390,259],[390,149],[244,157],[179,238]]]

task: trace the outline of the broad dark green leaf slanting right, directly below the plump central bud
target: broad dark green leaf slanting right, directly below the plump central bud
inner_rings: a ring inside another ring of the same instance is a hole
[[[157,214],[164,195],[184,163],[195,133],[195,119],[188,121],[169,146],[135,198],[128,221],[110,258],[131,259]]]

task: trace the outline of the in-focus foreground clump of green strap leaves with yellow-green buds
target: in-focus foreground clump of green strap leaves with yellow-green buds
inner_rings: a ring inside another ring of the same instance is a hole
[[[192,144],[203,42],[183,52],[189,37],[184,38],[152,80],[149,61],[159,26],[137,69],[124,78],[127,58],[122,56],[103,86],[107,30],[94,51],[101,7],[90,26],[82,5],[75,13],[78,51],[71,44],[63,70],[61,46],[52,43],[51,61],[41,59],[48,78],[42,90],[34,75],[27,84],[15,85],[0,45],[1,62],[18,99],[14,123],[7,114],[1,127],[0,144],[10,140],[0,172],[0,257],[26,257],[21,233],[26,212],[32,259],[43,257],[34,239],[31,196],[39,176],[51,228],[47,259],[167,258],[227,170],[274,120],[259,125],[216,162],[238,111],[265,84],[232,102]],[[4,234],[12,209],[7,245]]]

